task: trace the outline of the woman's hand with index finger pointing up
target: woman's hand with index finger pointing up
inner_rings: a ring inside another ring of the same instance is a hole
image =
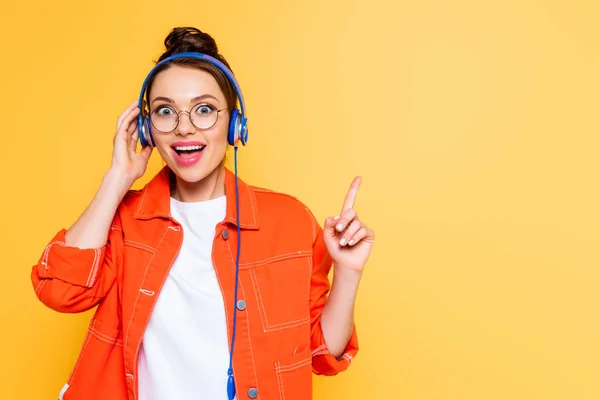
[[[371,254],[374,232],[358,219],[354,200],[362,179],[354,178],[344,200],[342,212],[325,220],[323,240],[333,259],[335,272],[362,273]]]

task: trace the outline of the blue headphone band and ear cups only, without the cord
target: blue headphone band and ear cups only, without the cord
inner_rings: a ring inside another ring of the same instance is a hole
[[[142,90],[140,92],[140,98],[138,101],[138,107],[140,109],[140,113],[138,114],[138,136],[140,138],[140,144],[142,147],[146,147],[148,145],[155,147],[156,143],[154,142],[154,137],[152,137],[152,123],[150,122],[149,115],[145,114],[144,106],[144,95],[146,94],[146,89],[148,85],[148,79],[152,76],[154,71],[160,67],[161,65],[178,59],[178,58],[193,58],[196,60],[205,60],[219,68],[229,79],[233,87],[235,88],[235,92],[237,94],[237,98],[240,103],[241,112],[235,108],[231,113],[231,119],[229,122],[229,129],[227,131],[227,143],[231,146],[236,146],[238,141],[242,142],[242,145],[246,145],[248,142],[248,127],[247,127],[247,118],[246,118],[246,107],[244,105],[244,96],[242,95],[242,90],[240,89],[240,85],[237,83],[233,72],[225,64],[221,61],[217,60],[214,57],[211,57],[204,53],[197,52],[184,52],[177,53],[172,55],[171,57],[167,57],[152,68],[146,79],[144,79],[144,84],[142,85]]]

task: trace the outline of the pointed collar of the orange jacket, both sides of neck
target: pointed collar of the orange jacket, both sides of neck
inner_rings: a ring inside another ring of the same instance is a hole
[[[169,176],[170,169],[165,166],[146,186],[144,186],[140,203],[135,212],[136,219],[152,219],[158,217],[172,218]],[[240,228],[258,229],[258,213],[254,192],[239,177],[237,186],[240,197]],[[237,226],[235,194],[235,175],[226,168],[225,196],[227,198],[227,211],[225,214],[225,222]]]

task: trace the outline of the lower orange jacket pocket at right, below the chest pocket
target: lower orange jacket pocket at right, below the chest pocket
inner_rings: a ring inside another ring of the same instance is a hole
[[[312,399],[312,353],[310,347],[275,363],[280,400]]]

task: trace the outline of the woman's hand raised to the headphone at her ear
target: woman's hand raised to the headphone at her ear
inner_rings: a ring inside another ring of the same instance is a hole
[[[133,102],[117,121],[117,131],[113,142],[111,175],[117,175],[129,190],[133,183],[144,175],[152,147],[146,146],[138,153],[137,116],[140,113],[138,101]]]

